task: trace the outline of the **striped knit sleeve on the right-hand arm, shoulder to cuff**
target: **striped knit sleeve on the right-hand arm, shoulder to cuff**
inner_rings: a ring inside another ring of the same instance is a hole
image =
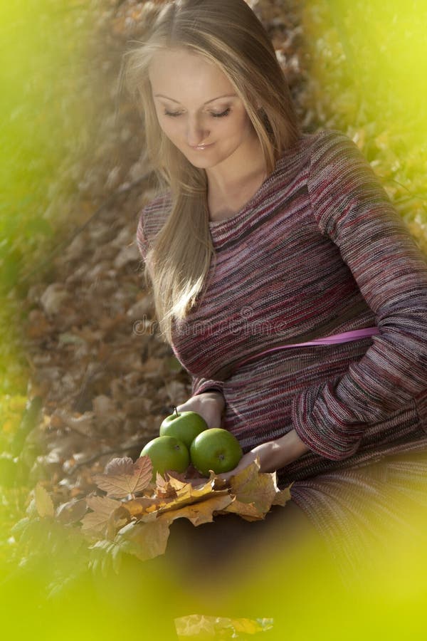
[[[339,377],[292,399],[292,424],[332,460],[357,451],[364,429],[427,389],[427,263],[357,145],[323,132],[308,192],[322,234],[339,248],[380,333]]]

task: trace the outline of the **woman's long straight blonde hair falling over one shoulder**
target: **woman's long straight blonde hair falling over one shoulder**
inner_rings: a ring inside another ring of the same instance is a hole
[[[175,0],[152,4],[151,11],[147,36],[125,53],[124,78],[142,108],[147,155],[159,190],[167,189],[172,197],[145,266],[162,338],[172,344],[172,323],[186,318],[195,305],[216,257],[206,171],[191,165],[159,126],[149,82],[152,57],[164,49],[184,48],[218,66],[243,101],[268,175],[300,128],[273,44],[245,0]]]

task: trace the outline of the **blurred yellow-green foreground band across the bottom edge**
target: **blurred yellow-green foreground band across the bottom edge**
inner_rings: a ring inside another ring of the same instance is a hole
[[[416,514],[413,524],[420,531],[427,525]],[[421,639],[427,632],[427,548],[425,538],[422,545],[415,541],[420,539],[381,542],[376,565],[359,568],[357,578],[348,575],[348,585],[337,580],[334,568],[308,543],[291,561],[285,551],[270,550],[263,557],[254,551],[220,584],[206,574],[195,585],[177,568],[129,557],[118,576],[88,573],[46,600],[39,596],[44,588],[41,561],[33,575],[1,586],[3,638],[112,641],[132,635],[163,641],[176,638],[174,617],[205,614],[273,618],[273,628],[257,635],[265,640]]]

